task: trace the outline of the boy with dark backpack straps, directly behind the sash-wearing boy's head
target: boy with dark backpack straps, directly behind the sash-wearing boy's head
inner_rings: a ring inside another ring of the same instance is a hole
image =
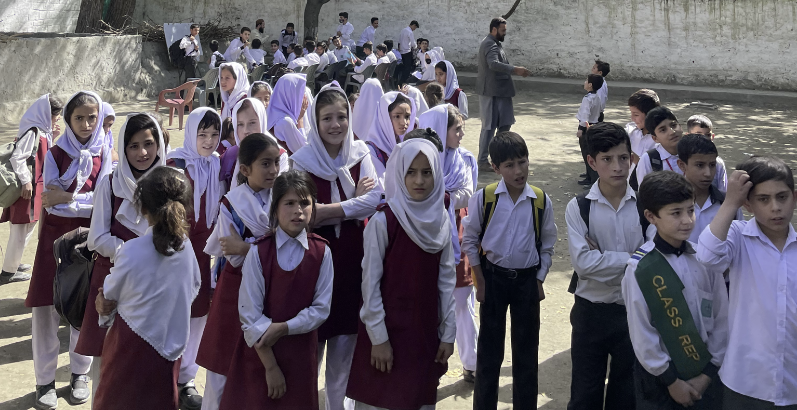
[[[684,132],[675,114],[667,107],[656,107],[645,116],[645,129],[650,130],[657,145],[639,158],[636,177],[640,186],[645,175],[654,171],[675,171],[683,174],[678,168],[678,141]]]

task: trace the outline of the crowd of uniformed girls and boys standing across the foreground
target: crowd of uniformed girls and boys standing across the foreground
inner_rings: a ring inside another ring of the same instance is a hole
[[[368,79],[354,98],[219,68],[221,113],[192,111],[176,149],[153,113],[129,114],[113,141],[116,114],[91,91],[44,95],[21,119],[0,278],[30,280],[36,407],[57,405],[53,242],[85,227],[96,262],[69,333],[73,404],[316,409],[325,359],[327,409],[430,409],[456,343],[474,408],[494,409],[510,309],[513,403],[535,408],[561,210],[528,183],[523,137],[492,139],[501,178],[477,189],[446,60],[424,91]],[[594,180],[564,210],[568,408],[795,408],[791,169],[751,157],[727,177],[710,120],[683,135],[652,90],[629,98],[625,127],[603,122],[609,65],[592,71],[578,137]]]

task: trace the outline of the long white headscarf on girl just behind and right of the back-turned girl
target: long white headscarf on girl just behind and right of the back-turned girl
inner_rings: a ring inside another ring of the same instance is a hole
[[[261,104],[262,105],[262,104]],[[185,160],[185,169],[194,180],[194,220],[199,220],[199,210],[201,208],[200,201],[202,201],[202,194],[207,192],[205,196],[205,222],[207,227],[210,228],[216,222],[216,217],[219,215],[219,200],[221,199],[221,186],[219,184],[219,172],[221,171],[221,161],[219,154],[216,152],[219,144],[213,147],[213,153],[207,157],[199,155],[197,150],[196,139],[198,134],[199,123],[207,113],[212,113],[219,116],[216,110],[201,107],[194,111],[185,120],[185,140],[183,146],[170,152],[167,156],[169,158],[182,158]],[[221,117],[219,117],[221,118]],[[221,124],[221,119],[219,119]]]

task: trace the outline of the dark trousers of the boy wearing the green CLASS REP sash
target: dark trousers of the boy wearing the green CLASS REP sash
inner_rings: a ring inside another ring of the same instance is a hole
[[[683,410],[670,396],[667,386],[658,377],[650,374],[634,359],[634,393],[636,394],[636,410]],[[690,410],[722,410],[723,386],[719,377],[715,377],[708,389],[703,393],[703,398],[688,407]],[[727,407],[726,407],[727,408]],[[734,407],[736,408],[736,407]],[[753,407],[739,407],[750,410]]]

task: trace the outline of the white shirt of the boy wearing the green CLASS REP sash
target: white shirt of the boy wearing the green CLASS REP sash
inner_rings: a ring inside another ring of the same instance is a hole
[[[689,306],[700,338],[711,353],[711,364],[716,367],[723,365],[728,345],[728,293],[721,271],[717,272],[703,266],[695,256],[693,244],[688,241],[678,250],[683,251],[680,256],[673,253],[674,250],[672,245],[658,236],[653,241],[646,242],[628,260],[622,285],[634,353],[648,373],[663,378],[668,376],[671,378],[675,369],[674,366],[670,368],[670,354],[659,331],[651,323],[650,309],[636,280],[637,264],[644,257],[641,253],[661,252],[683,282],[686,304]],[[711,317],[703,316],[701,308],[706,305],[711,306]],[[665,375],[665,372],[668,374]],[[722,381],[725,381],[724,377]]]

